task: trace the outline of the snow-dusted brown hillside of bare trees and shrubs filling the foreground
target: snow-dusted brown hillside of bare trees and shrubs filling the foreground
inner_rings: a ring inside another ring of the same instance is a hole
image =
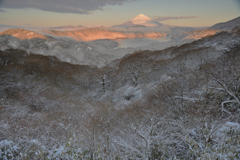
[[[0,159],[238,160],[239,44],[235,29],[103,68],[0,51]]]

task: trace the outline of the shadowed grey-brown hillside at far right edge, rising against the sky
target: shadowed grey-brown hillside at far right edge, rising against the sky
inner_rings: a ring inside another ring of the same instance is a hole
[[[240,26],[240,17],[237,17],[237,18],[232,19],[232,20],[227,21],[227,22],[215,24],[212,27],[210,27],[209,29],[226,31],[226,30],[233,29],[236,26]]]

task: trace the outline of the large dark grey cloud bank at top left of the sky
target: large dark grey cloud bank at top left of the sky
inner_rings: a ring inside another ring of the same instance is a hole
[[[0,0],[1,8],[36,8],[58,13],[91,14],[106,5],[122,5],[134,0]],[[3,11],[0,9],[0,12]]]

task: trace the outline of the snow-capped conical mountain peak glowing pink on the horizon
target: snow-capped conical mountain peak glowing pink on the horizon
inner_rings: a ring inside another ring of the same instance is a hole
[[[163,25],[162,23],[154,21],[144,14],[139,14],[132,20],[113,27],[157,27],[162,25]]]

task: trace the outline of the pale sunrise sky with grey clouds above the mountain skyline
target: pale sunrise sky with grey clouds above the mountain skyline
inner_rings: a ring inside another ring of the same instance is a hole
[[[179,26],[211,26],[240,16],[239,0],[1,1],[1,10],[5,12],[0,12],[0,24],[25,27],[117,25],[138,14],[145,14],[149,17],[197,16],[197,18],[166,20],[161,23]],[[30,1],[32,3],[29,3]],[[54,3],[49,4],[50,1]],[[66,6],[66,2],[69,2],[69,6]],[[110,4],[106,4],[106,2],[110,2]]]

